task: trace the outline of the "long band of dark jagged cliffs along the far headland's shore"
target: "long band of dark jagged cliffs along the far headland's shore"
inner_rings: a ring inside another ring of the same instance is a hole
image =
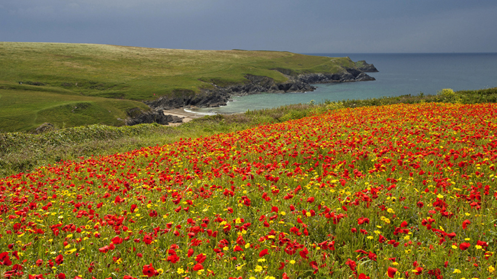
[[[203,108],[225,106],[231,96],[244,96],[268,93],[307,92],[316,89],[313,83],[349,82],[375,80],[361,70],[351,68],[339,73],[306,73],[296,74],[290,70],[273,69],[284,74],[288,80],[276,82],[268,76],[247,74],[247,82],[225,87],[212,84],[214,89],[204,89],[198,94],[175,94],[176,97],[161,97],[145,103],[151,108],[160,110],[177,109],[188,106]],[[179,95],[179,96],[178,96]]]

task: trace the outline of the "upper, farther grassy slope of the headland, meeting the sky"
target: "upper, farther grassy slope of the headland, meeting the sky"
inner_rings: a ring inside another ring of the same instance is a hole
[[[245,75],[287,78],[272,69],[337,72],[348,58],[268,51],[171,50],[92,44],[0,43],[0,86],[40,82],[83,95],[150,100],[211,82],[247,82]],[[156,95],[154,95],[156,94]]]

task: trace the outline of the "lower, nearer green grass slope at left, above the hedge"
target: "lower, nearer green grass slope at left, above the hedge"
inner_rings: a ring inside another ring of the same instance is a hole
[[[144,103],[33,90],[0,90],[0,132],[29,131],[49,122],[58,127],[121,126],[126,112]]]

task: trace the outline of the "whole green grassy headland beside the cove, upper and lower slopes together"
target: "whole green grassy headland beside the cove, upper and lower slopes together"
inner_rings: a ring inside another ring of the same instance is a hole
[[[127,110],[147,109],[139,101],[244,83],[247,74],[287,79],[274,69],[335,73],[355,64],[273,51],[0,42],[0,66],[0,131],[13,132],[43,122],[119,126]]]

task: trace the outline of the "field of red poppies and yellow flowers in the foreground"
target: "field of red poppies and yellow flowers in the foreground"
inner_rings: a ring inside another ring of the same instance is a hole
[[[497,104],[332,110],[0,179],[0,276],[496,278]]]

